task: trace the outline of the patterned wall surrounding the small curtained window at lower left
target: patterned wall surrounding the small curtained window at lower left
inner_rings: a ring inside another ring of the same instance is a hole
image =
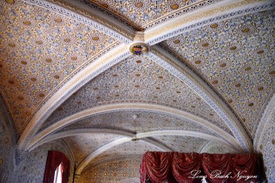
[[[47,151],[61,151],[69,158],[69,154],[63,147],[56,143],[41,145],[28,153],[27,151],[17,154],[15,167],[9,176],[9,183],[14,182],[43,182],[44,171],[47,161]],[[72,161],[72,160],[70,160]],[[71,176],[72,176],[72,166]],[[71,177],[72,178],[72,177]]]

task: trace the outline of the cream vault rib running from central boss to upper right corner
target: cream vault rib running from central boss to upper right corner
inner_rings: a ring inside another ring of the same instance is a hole
[[[245,14],[271,10],[274,5],[274,1],[221,1],[182,14],[175,19],[146,30],[144,32],[144,40],[148,45],[155,45],[168,38],[192,31],[192,29]]]

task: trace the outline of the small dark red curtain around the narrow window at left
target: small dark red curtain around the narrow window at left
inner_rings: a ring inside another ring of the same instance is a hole
[[[43,183],[53,183],[54,173],[61,164],[62,183],[69,181],[69,160],[59,151],[48,151]]]

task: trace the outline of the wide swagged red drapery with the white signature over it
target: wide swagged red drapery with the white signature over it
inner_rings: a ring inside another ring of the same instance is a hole
[[[256,154],[146,152],[140,180],[153,183],[258,182]]]

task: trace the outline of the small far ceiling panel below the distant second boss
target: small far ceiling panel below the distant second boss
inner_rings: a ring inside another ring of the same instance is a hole
[[[122,143],[107,151],[104,151],[102,154],[91,160],[89,164],[92,164],[98,160],[104,160],[106,158],[112,158],[115,156],[124,156],[124,155],[142,155],[146,151],[161,151],[160,149],[153,147],[152,145],[148,145],[148,143],[144,143],[143,141],[129,141],[126,143]],[[89,166],[87,165],[87,167]]]

